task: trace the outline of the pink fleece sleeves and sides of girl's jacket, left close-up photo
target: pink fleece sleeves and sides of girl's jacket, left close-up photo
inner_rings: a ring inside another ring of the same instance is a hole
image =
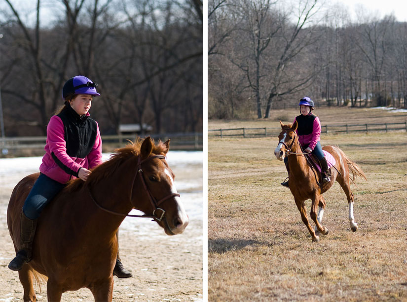
[[[89,113],[86,115],[89,115]],[[51,155],[52,152],[65,166],[76,172],[81,167],[91,169],[102,164],[102,139],[100,137],[99,126],[97,127],[95,144],[85,158],[70,157],[67,154],[64,134],[64,123],[61,118],[56,115],[52,116],[47,126],[47,139],[44,147],[45,155],[42,157],[42,164],[39,167],[41,173],[60,183],[66,183],[76,177],[68,174],[55,163]]]

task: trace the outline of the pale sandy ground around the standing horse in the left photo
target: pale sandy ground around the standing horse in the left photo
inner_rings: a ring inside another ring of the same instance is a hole
[[[174,172],[177,180],[187,181],[192,173],[202,177],[202,165]],[[16,179],[24,176],[13,175]],[[4,188],[2,183],[0,181],[0,301],[22,301],[23,287],[18,273],[7,268],[14,257],[6,222],[12,189]],[[179,193],[184,204],[188,201],[183,198],[183,193],[186,193],[185,196],[194,195],[195,199],[198,196],[202,201],[202,187],[193,188],[192,192],[179,189]],[[139,222],[131,223],[137,225]],[[202,301],[202,216],[199,219],[195,215],[185,232],[176,236],[167,236],[156,223],[148,223],[156,225],[156,228],[152,228],[154,239],[137,236],[131,229],[120,228],[120,256],[125,268],[133,272],[133,277],[114,277],[113,301]],[[35,289],[37,301],[47,301],[46,284],[40,284],[40,288],[37,285]],[[64,293],[62,301],[93,301],[93,296],[88,289],[81,289]]]

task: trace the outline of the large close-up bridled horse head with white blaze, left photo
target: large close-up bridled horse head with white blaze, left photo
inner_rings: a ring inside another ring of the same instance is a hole
[[[184,232],[189,218],[175,188],[175,175],[165,160],[169,146],[170,140],[156,146],[150,137],[144,139],[131,202],[135,209],[151,215],[167,235],[176,235]]]

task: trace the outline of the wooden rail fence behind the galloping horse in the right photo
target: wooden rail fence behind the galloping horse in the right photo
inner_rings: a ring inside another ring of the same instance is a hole
[[[388,132],[401,131],[407,132],[407,122],[404,123],[384,123],[384,124],[345,124],[345,125],[324,125],[321,127],[322,133],[350,133],[350,132]],[[213,133],[213,134],[212,134]],[[279,129],[276,128],[232,128],[232,129],[211,129],[208,130],[208,136],[243,136],[257,137],[267,135],[278,135]]]

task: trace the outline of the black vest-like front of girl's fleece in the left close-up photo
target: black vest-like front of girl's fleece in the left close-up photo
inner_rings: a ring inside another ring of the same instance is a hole
[[[70,157],[85,158],[96,141],[96,122],[87,116],[81,118],[71,106],[57,116],[64,123],[67,154]]]

